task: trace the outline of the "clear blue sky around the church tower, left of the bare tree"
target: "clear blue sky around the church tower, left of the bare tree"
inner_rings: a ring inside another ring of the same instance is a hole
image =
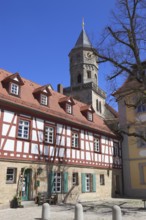
[[[108,24],[116,0],[0,0],[0,68],[40,85],[70,85],[68,54],[85,30],[93,45]],[[108,69],[99,86],[109,93]]]

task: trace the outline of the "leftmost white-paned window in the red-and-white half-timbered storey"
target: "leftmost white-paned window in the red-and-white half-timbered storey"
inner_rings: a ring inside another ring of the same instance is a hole
[[[29,138],[29,127],[30,127],[29,121],[25,121],[22,119],[19,120],[18,137],[28,139]]]

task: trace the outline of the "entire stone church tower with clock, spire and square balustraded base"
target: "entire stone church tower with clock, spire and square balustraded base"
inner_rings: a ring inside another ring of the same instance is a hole
[[[86,34],[84,23],[69,59],[70,87],[64,88],[63,93],[92,105],[95,112],[105,118],[106,93],[98,86],[98,54]]]

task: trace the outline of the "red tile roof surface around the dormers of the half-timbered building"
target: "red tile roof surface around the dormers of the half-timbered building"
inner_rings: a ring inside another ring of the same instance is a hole
[[[24,85],[21,86],[21,97],[16,97],[11,94],[9,94],[6,90],[6,88],[2,85],[2,80],[4,80],[6,77],[10,76],[12,73],[7,72],[3,69],[0,69],[0,102],[7,102],[13,105],[21,107],[25,107],[29,110],[34,110],[35,112],[39,112],[40,117],[41,113],[44,115],[48,115],[49,117],[56,117],[59,120],[64,120],[67,123],[73,123],[76,124],[76,126],[82,126],[86,127],[91,130],[96,130],[98,132],[101,132],[103,134],[107,135],[114,135],[115,134],[107,127],[107,125],[104,123],[104,121],[96,114],[94,113],[94,121],[90,122],[88,121],[83,114],[81,113],[81,108],[85,106],[84,103],[79,102],[75,99],[75,105],[73,106],[73,114],[67,114],[63,108],[59,105],[60,99],[64,99],[64,95],[61,93],[58,93],[54,90],[51,90],[51,96],[49,96],[49,106],[42,106],[38,102],[37,99],[34,98],[33,92],[36,91],[41,86],[26,80],[21,77],[21,79],[24,82]]]

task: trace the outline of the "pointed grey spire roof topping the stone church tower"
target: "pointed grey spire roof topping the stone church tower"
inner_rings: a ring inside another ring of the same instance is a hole
[[[77,47],[92,47],[91,42],[85,32],[85,23],[84,23],[84,18],[82,19],[82,31],[79,35],[79,38],[75,44],[75,48]]]

